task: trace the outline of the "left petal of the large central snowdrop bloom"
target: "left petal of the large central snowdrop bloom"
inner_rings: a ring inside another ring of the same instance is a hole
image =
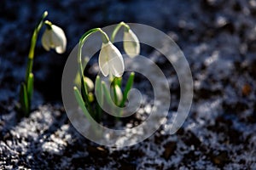
[[[107,53],[107,47],[104,43],[102,43],[102,49],[99,54],[99,67],[104,77],[108,77],[108,74],[109,74],[108,53]]]

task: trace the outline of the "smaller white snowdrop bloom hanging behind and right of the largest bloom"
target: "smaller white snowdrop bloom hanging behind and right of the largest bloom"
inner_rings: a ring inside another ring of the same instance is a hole
[[[137,36],[131,29],[124,32],[124,49],[125,53],[131,58],[137,56],[140,53],[140,42]]]

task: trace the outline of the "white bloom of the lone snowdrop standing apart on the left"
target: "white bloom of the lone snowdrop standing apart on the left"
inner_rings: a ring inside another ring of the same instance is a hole
[[[59,26],[47,27],[41,41],[46,51],[49,51],[50,48],[54,48],[58,54],[63,54],[66,51],[67,38]]]

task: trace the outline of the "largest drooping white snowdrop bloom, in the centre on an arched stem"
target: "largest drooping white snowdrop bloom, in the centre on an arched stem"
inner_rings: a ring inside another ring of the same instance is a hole
[[[119,49],[112,42],[102,43],[99,66],[105,77],[108,74],[112,74],[114,77],[121,77],[123,75],[125,71],[124,59]]]

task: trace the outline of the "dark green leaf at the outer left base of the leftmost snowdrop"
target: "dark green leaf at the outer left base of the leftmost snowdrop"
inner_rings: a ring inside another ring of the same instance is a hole
[[[20,106],[21,111],[24,113],[24,115],[28,116],[30,108],[28,105],[28,96],[26,92],[26,85],[24,82],[22,82],[20,86]]]

